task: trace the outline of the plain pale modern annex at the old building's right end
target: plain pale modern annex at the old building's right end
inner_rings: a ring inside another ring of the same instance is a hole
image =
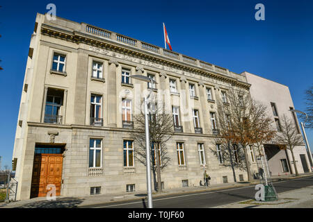
[[[301,134],[296,114],[289,111],[294,110],[294,103],[291,99],[289,87],[250,74],[246,71],[243,72],[242,75],[246,76],[248,83],[251,84],[250,95],[252,98],[266,104],[268,108],[268,116],[273,118],[273,128],[276,128],[278,132],[280,132],[280,118],[285,114],[294,121],[298,134]],[[295,163],[292,159],[290,150],[280,150],[276,144],[264,144],[264,151],[266,153],[271,175],[280,176],[283,174],[295,173]],[[294,148],[294,157],[298,173],[309,173],[312,171],[305,144]]]

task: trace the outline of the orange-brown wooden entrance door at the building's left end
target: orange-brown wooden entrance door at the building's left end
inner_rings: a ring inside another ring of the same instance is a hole
[[[31,181],[31,198],[47,196],[47,185],[56,186],[56,196],[61,195],[62,154],[35,154],[33,177]]]

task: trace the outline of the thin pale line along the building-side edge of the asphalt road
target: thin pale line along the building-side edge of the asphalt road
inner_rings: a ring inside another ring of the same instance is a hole
[[[284,180],[284,181],[280,181],[280,182],[290,182],[292,180],[303,180],[306,178],[312,178],[312,176],[308,176],[305,178],[298,178],[298,179],[291,179],[291,180]],[[273,183],[280,183],[280,182],[273,182]],[[186,195],[182,195],[182,196],[172,196],[172,197],[168,197],[168,198],[160,198],[160,199],[154,199],[153,201],[158,201],[158,200],[168,200],[168,199],[173,199],[173,198],[181,198],[181,197],[186,197],[186,196],[196,196],[196,195],[202,195],[202,194],[215,194],[221,191],[232,191],[235,189],[245,189],[248,187],[254,187],[255,185],[249,185],[246,187],[237,187],[237,188],[232,188],[232,189],[223,189],[223,190],[219,190],[219,191],[209,191],[209,192],[204,192],[204,193],[199,193],[199,194],[186,194]],[[300,188],[299,188],[300,189]],[[251,199],[248,199],[251,200]],[[127,200],[126,200],[127,201]],[[246,201],[246,200],[241,200],[239,202],[242,201]],[[143,203],[143,201],[138,201],[138,202],[131,202],[131,203],[120,203],[120,204],[116,204],[116,205],[107,205],[107,206],[101,206],[101,207],[92,207],[92,208],[104,208],[104,207],[115,207],[115,206],[121,206],[121,205],[130,205],[130,204],[136,204],[136,203]],[[236,202],[237,203],[237,202]]]

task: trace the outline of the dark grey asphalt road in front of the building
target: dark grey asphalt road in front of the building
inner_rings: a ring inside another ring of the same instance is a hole
[[[284,180],[280,182],[273,182],[273,185],[278,194],[300,189],[313,185],[313,176],[306,178],[298,178],[293,180]],[[204,191],[196,194],[185,195],[170,195],[153,199],[154,208],[207,208],[235,203],[243,200],[250,200],[255,198],[255,185],[249,187],[238,187],[233,189],[223,189],[218,191]],[[145,208],[147,201],[132,200],[122,203],[106,203],[101,205],[90,205],[86,207],[95,208]]]

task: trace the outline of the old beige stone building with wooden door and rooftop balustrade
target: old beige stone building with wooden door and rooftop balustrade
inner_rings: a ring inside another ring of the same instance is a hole
[[[131,79],[149,76],[157,85]],[[233,182],[232,171],[209,151],[218,128],[216,98],[247,92],[246,76],[85,23],[38,14],[31,36],[13,160],[17,200],[145,191],[145,166],[134,154],[133,114],[148,87],[163,94],[174,117],[171,161],[163,187]],[[225,101],[227,103],[227,101]],[[257,172],[253,151],[250,169]],[[247,180],[246,171],[236,171]]]

